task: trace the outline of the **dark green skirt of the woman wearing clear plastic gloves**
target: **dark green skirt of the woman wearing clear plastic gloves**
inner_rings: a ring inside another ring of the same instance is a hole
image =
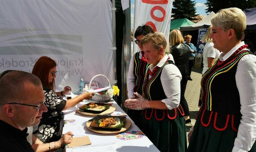
[[[141,118],[141,130],[161,152],[186,152],[187,138],[185,132],[185,119],[179,113],[177,118],[171,120],[167,116],[162,121],[155,119],[154,114],[150,120]]]

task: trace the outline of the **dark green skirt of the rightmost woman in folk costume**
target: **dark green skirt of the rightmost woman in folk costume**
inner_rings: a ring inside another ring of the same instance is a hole
[[[225,131],[217,131],[212,125],[203,127],[200,118],[197,119],[188,152],[232,152],[237,132],[230,126]],[[255,143],[249,152],[256,152]]]

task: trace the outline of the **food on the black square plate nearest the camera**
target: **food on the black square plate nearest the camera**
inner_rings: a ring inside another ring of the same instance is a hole
[[[96,121],[99,127],[114,127],[121,128],[124,125],[124,122],[121,122],[118,117],[102,118]]]

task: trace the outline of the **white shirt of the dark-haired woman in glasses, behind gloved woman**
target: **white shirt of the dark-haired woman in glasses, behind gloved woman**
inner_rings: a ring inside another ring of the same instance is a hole
[[[135,53],[134,53],[135,54]],[[135,76],[133,74],[133,68],[134,68],[134,54],[132,55],[132,58],[130,60],[129,64],[129,71],[128,71],[128,76],[127,76],[127,91],[128,91],[128,98],[133,97],[133,88],[135,85]],[[173,56],[171,54],[168,55],[170,57],[170,60],[174,63]],[[142,54],[140,51],[139,58],[142,58]],[[142,85],[142,84],[141,84]]]

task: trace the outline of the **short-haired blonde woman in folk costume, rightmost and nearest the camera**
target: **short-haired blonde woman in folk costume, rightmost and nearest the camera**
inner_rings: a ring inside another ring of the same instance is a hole
[[[211,22],[210,38],[222,53],[202,77],[203,104],[188,151],[256,152],[256,56],[241,42],[246,16],[225,8]]]

